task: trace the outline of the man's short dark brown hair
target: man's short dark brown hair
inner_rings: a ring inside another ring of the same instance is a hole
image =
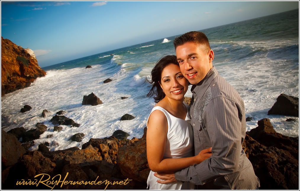
[[[199,45],[205,45],[208,49],[210,49],[208,38],[202,32],[190,31],[188,33],[185,33],[179,37],[176,37],[173,41],[173,44],[176,49],[177,46],[183,45],[186,42],[194,42]]]

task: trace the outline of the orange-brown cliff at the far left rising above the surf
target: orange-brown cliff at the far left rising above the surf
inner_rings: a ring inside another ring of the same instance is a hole
[[[32,50],[1,36],[1,96],[28,87],[37,77],[45,75]]]

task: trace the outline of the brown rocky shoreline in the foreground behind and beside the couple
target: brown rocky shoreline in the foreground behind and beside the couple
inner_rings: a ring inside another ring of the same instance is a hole
[[[185,98],[187,103],[189,100]],[[32,132],[39,132],[39,136],[45,129],[47,127],[43,124],[38,124]],[[146,155],[146,127],[140,139],[134,137],[128,140],[128,133],[117,130],[110,137],[91,138],[81,149],[72,147],[57,151],[49,151],[49,143],[40,144],[36,151],[28,150],[38,136],[33,136],[33,140],[25,138],[28,142],[21,144],[19,138],[26,137],[28,133],[20,128],[1,133],[3,189],[51,189],[53,185],[36,186],[33,182],[32,185],[16,185],[22,179],[41,181],[40,174],[45,174],[49,178],[54,177],[54,180],[58,180],[56,175],[59,175],[65,181],[97,180],[103,183],[56,185],[54,189],[146,190],[150,171]],[[268,118],[259,120],[256,128],[246,132],[242,148],[260,180],[260,189],[298,189],[298,142],[298,137],[287,137],[275,132]],[[34,178],[36,175],[40,176]],[[114,182],[117,184],[109,184]],[[118,184],[120,182],[123,183]]]

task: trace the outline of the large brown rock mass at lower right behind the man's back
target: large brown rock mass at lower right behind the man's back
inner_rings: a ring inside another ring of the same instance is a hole
[[[265,118],[247,133],[242,146],[260,180],[260,190],[298,189],[298,137],[275,132]]]

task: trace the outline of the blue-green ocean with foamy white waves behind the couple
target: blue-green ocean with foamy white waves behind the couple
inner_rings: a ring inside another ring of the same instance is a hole
[[[269,118],[276,132],[299,136],[298,117],[293,117],[295,122],[283,122],[291,116],[267,115],[281,93],[299,97],[298,12],[297,9],[199,30],[208,36],[214,51],[213,65],[244,100],[246,117],[254,118],[247,122],[247,131],[255,128],[258,120]],[[1,129],[32,129],[36,123],[44,122],[49,129],[35,140],[32,150],[40,143],[53,140],[59,146],[50,146],[52,151],[73,146],[81,148],[90,138],[109,137],[117,129],[128,132],[129,139],[142,137],[155,105],[154,99],[146,97],[150,90],[146,79],[150,79],[152,68],[162,56],[175,55],[173,40],[176,36],[43,68],[47,73],[45,77],[1,98]],[[87,65],[92,68],[85,69]],[[112,81],[103,83],[107,78]],[[192,96],[189,90],[187,97]],[[83,96],[92,92],[103,104],[82,105]],[[121,100],[121,97],[128,98]],[[26,104],[32,110],[21,113],[20,109]],[[51,112],[49,117],[41,117],[44,109]],[[59,110],[66,111],[64,116],[81,126],[61,125],[61,132],[53,132],[54,125],[49,120]],[[120,121],[126,113],[135,118]],[[81,142],[69,140],[79,132],[85,134]],[[53,137],[46,138],[50,134]]]

